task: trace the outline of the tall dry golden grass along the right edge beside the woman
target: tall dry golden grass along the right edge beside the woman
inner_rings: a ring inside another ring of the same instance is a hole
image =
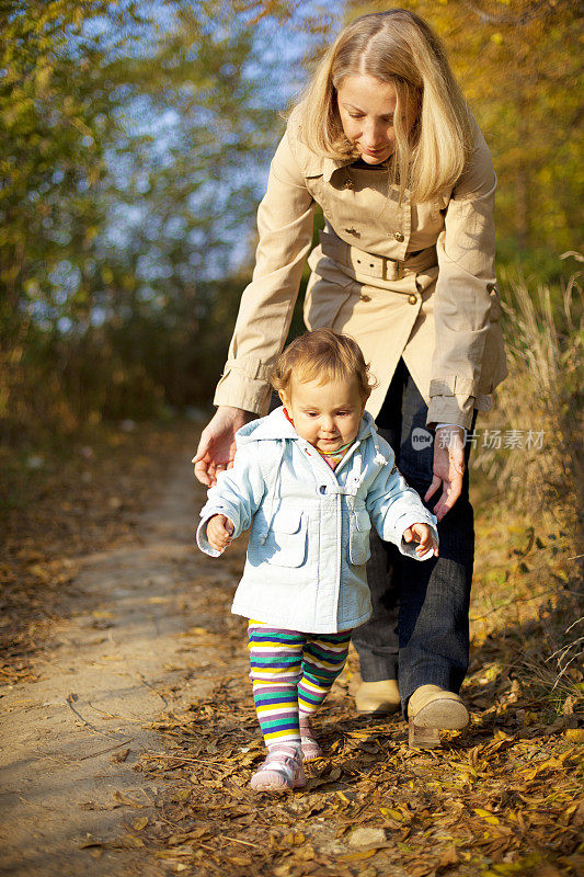
[[[579,254],[568,255],[584,261]],[[571,714],[584,694],[580,669],[584,641],[583,275],[576,271],[551,288],[531,283],[520,270],[503,275],[509,376],[497,391],[486,428],[500,429],[502,434],[517,431],[523,446],[478,447],[473,460],[496,486],[496,514],[508,540],[507,548],[499,546],[499,551],[514,565],[512,574],[505,576],[509,604],[528,607],[528,612],[516,608],[520,624],[516,675],[563,714]],[[542,436],[527,443],[529,432]],[[491,508],[484,513],[490,512]],[[518,529],[524,539],[528,534],[527,547],[520,549],[512,547],[512,534]],[[482,560],[485,568],[495,555],[491,547]],[[497,585],[494,597],[488,597],[496,600],[500,594]],[[495,624],[499,634],[508,628],[508,612],[501,613]]]

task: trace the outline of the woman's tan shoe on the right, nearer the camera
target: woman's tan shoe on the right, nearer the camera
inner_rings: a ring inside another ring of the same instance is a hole
[[[440,744],[440,730],[460,730],[469,724],[468,709],[454,692],[421,685],[408,702],[410,745],[430,749]]]

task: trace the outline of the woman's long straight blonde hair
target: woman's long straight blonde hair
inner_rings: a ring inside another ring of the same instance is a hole
[[[426,22],[405,9],[362,15],[344,27],[319,64],[299,105],[302,139],[334,159],[356,157],[336,103],[347,76],[369,75],[396,89],[393,183],[400,198],[436,197],[453,187],[469,157],[469,109],[445,49]],[[415,113],[411,128],[406,119]]]

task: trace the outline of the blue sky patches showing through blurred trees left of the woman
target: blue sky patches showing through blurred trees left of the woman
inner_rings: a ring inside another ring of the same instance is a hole
[[[172,30],[175,24],[174,10],[176,3],[186,5],[184,0],[156,0],[148,2],[142,0],[137,4],[140,14],[147,20],[144,25],[136,25],[131,19],[126,16],[124,10],[128,9],[131,0],[118,0],[112,3],[108,18],[92,19],[83,27],[80,37],[71,34],[69,49],[75,55],[80,56],[85,50],[84,46],[91,47],[92,41],[100,45],[106,45],[110,37],[112,39],[111,58],[124,59],[124,57],[154,57],[158,41]],[[206,0],[192,0],[190,10],[196,12],[197,9],[205,7]],[[229,11],[232,3],[225,3]],[[241,192],[251,190],[251,204],[255,208],[265,190],[270,158],[273,153],[277,140],[284,129],[282,113],[295,98],[298,96],[307,79],[307,68],[305,58],[307,54],[313,53],[316,47],[322,45],[322,34],[314,33],[313,22],[316,21],[323,31],[336,33],[342,24],[343,3],[339,3],[331,10],[331,5],[305,0],[296,3],[290,2],[294,14],[285,21],[275,21],[273,18],[265,18],[253,23],[254,52],[252,59],[247,65],[247,76],[256,90],[257,104],[267,107],[273,112],[273,129],[267,133],[267,140],[259,145],[256,157],[251,157],[240,167],[230,171],[229,181],[225,184],[213,181],[213,168],[209,169],[209,180],[204,181],[205,185],[197,190],[192,197],[192,208],[205,210],[205,204],[228,205],[230,197],[238,197]],[[118,19],[122,15],[122,19]],[[206,21],[203,19],[203,21]],[[244,22],[241,15],[238,23]],[[249,16],[248,16],[249,21]],[[245,23],[245,22],[244,22]],[[127,42],[119,48],[121,36],[126,36]],[[254,60],[256,59],[256,60]],[[268,71],[268,73],[266,73]],[[157,71],[153,67],[152,76]],[[122,87],[123,88],[123,87]],[[133,89],[128,87],[128,94],[133,94]],[[133,238],[137,232],[144,232],[148,226],[148,202],[145,195],[148,192],[148,174],[152,164],[157,168],[168,164],[172,167],[173,148],[176,147],[178,137],[180,138],[180,112],[172,102],[161,106],[160,102],[153,106],[149,96],[131,96],[124,106],[123,127],[127,132],[128,153],[124,155],[119,147],[123,143],[113,147],[106,156],[110,175],[117,196],[111,200],[108,225],[105,235],[101,240],[105,252],[111,253],[115,261],[124,260],[124,253],[129,252]],[[147,134],[152,138],[151,144],[145,149],[145,163],[140,166],[137,156],[137,139],[141,134]],[[122,138],[124,139],[124,138]],[[180,147],[187,155],[184,144]],[[210,193],[210,194],[209,194]],[[247,195],[249,197],[249,195]],[[199,200],[197,202],[197,198]],[[228,207],[226,208],[228,212]],[[179,210],[178,210],[179,213]],[[173,271],[187,273],[197,283],[206,278],[219,278],[237,270],[242,262],[250,259],[254,237],[254,216],[250,215],[245,224],[241,224],[234,229],[221,229],[225,239],[225,247],[220,250],[220,258],[202,259],[201,252],[205,249],[205,240],[201,244],[197,241],[197,231],[193,230],[190,240],[184,240],[184,252],[186,255],[185,264],[173,265]],[[181,220],[179,216],[171,216],[164,226],[168,238],[175,238],[179,242],[181,238]],[[156,225],[147,234],[140,236],[144,252],[136,265],[139,293],[144,298],[156,296],[156,281],[165,278],[170,286],[173,280],[179,284],[184,282],[184,277],[176,275],[173,277],[164,246],[158,246],[161,238],[157,237]],[[59,263],[54,272],[54,282],[61,291],[61,297],[68,298],[75,295],[79,285],[79,272],[67,261]],[[152,285],[151,285],[152,284]],[[106,319],[106,311],[95,307],[93,321],[101,322]],[[65,323],[68,321],[66,320]],[[61,329],[67,330],[67,324]]]

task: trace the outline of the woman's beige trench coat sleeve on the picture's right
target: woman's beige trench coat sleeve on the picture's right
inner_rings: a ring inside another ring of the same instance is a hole
[[[447,422],[469,429],[474,399],[481,395],[483,354],[497,295],[495,186],[491,155],[476,126],[472,157],[453,191],[436,243],[439,272],[434,294],[436,346],[428,425]]]

